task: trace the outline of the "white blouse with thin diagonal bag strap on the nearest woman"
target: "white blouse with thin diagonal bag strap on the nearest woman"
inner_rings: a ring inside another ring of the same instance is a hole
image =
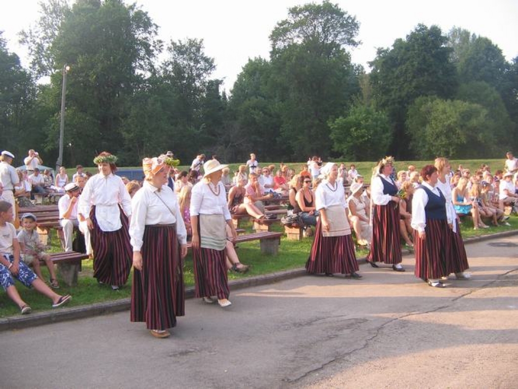
[[[142,248],[142,238],[146,226],[157,224],[176,223],[178,242],[180,244],[187,243],[187,231],[180,213],[176,193],[167,185],[162,186],[158,191],[158,188],[145,181],[142,188],[133,196],[131,206],[130,238],[133,251],[140,251]]]

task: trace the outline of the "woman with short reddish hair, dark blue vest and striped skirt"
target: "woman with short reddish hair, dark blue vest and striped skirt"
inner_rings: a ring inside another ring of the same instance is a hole
[[[450,246],[450,228],[446,198],[436,187],[438,173],[434,165],[421,170],[423,184],[412,199],[412,228],[416,277],[428,285],[443,288],[442,277],[448,275],[447,260]]]

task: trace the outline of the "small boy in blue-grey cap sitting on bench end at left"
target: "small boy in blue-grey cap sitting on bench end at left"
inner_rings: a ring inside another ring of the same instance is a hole
[[[26,265],[32,264],[36,275],[43,280],[41,275],[41,268],[39,265],[40,259],[45,262],[50,273],[50,286],[54,289],[60,287],[57,282],[54,264],[50,255],[45,252],[45,246],[39,241],[39,234],[36,231],[36,216],[32,213],[24,213],[21,217],[22,229],[18,232],[18,242],[20,243],[21,260]]]

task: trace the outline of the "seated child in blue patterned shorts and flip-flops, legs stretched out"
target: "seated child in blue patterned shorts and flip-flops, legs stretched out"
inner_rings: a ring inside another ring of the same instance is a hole
[[[20,244],[16,238],[15,226],[11,224],[12,217],[12,205],[7,201],[0,201],[0,285],[7,296],[20,307],[22,314],[31,313],[31,307],[20,297],[14,279],[51,299],[52,308],[61,307],[72,297],[56,294],[23,261],[20,261]]]

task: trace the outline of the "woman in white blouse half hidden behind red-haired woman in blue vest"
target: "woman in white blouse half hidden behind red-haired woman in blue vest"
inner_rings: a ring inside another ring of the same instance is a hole
[[[446,199],[448,224],[452,226],[449,231],[451,240],[447,251],[447,274],[455,273],[457,280],[469,280],[471,274],[465,272],[469,268],[468,257],[466,255],[466,249],[464,248],[461,229],[458,225],[458,216],[452,202],[450,176],[447,175],[451,170],[450,161],[443,157],[436,158],[435,167],[439,174],[436,187],[442,192],[442,195]]]

